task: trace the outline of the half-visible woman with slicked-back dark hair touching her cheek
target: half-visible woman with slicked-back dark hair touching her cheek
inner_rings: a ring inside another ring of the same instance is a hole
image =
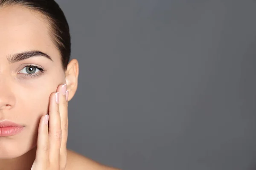
[[[0,0],[0,170],[114,170],[67,150],[79,65],[54,0]]]

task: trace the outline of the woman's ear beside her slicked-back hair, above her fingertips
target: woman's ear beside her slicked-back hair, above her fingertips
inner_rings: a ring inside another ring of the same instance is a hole
[[[68,101],[70,101],[76,93],[78,84],[79,65],[77,59],[72,59],[68,63],[65,75],[67,90],[69,91]]]

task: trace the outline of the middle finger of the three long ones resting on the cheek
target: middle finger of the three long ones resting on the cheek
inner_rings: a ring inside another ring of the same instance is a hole
[[[61,147],[61,119],[59,113],[59,92],[52,93],[49,104],[49,161],[59,162]]]

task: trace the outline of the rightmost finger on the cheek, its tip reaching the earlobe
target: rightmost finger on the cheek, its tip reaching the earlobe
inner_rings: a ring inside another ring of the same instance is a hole
[[[61,116],[61,148],[60,148],[60,162],[65,162],[67,159],[67,135],[68,135],[68,91],[66,85],[61,85],[58,87],[57,91],[60,91],[60,101],[59,101],[59,110]]]

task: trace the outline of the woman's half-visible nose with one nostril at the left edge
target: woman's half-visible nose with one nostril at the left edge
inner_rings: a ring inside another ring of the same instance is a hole
[[[7,82],[0,81],[0,111],[15,105],[15,96]]]

